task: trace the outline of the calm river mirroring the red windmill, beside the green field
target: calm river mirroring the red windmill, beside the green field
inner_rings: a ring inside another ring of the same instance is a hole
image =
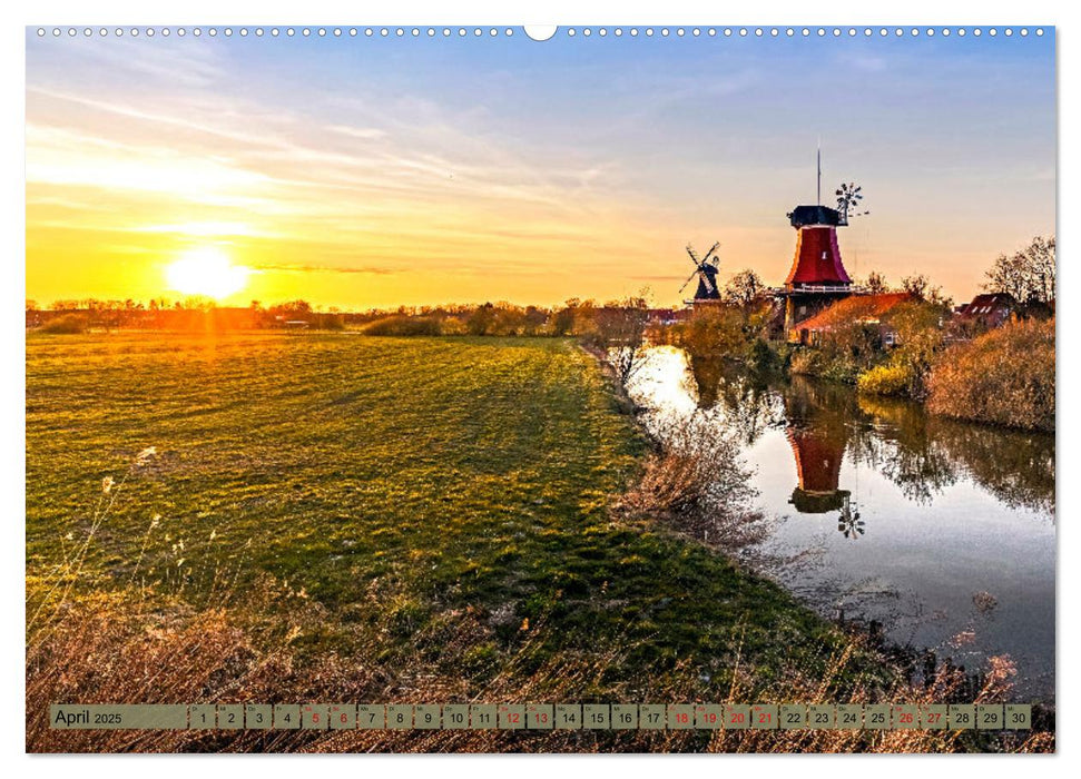
[[[881,621],[957,663],[1010,654],[1018,694],[1053,698],[1054,436],[671,347],[650,349],[629,391],[647,424],[706,420],[738,443],[778,520],[767,572],[825,613]],[[989,595],[993,611],[974,608]]]

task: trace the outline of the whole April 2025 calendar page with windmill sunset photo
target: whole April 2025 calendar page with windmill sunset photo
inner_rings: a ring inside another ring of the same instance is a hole
[[[24,39],[28,752],[1054,751],[1053,26]]]

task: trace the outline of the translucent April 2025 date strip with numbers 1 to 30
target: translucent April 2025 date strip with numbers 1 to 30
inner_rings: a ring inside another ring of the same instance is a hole
[[[1028,703],[234,703],[49,707],[58,730],[1029,730]]]

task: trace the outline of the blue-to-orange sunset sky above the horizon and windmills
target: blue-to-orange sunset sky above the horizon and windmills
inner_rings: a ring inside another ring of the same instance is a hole
[[[839,230],[857,278],[964,300],[1055,231],[1052,30],[438,32],[28,29],[27,297],[178,299],[206,273],[227,305],[672,305],[684,247],[718,240],[723,279],[779,285],[819,144],[823,203],[855,181],[871,211]]]

